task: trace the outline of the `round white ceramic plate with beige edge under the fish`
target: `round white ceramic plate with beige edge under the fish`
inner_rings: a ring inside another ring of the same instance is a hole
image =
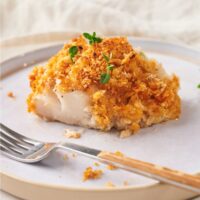
[[[149,57],[161,62],[168,73],[176,73],[180,77],[182,114],[179,120],[142,129],[139,134],[126,139],[120,139],[113,133],[104,134],[90,129],[85,129],[80,139],[66,139],[64,129],[82,128],[45,122],[26,111],[26,97],[30,92],[27,77],[32,65],[45,62],[62,47],[56,45],[14,57],[1,64],[3,75],[1,121],[11,129],[38,140],[49,142],[70,140],[102,150],[119,150],[140,160],[189,173],[198,173],[200,171],[200,90],[197,89],[197,84],[200,83],[200,67],[197,64],[200,63],[199,52],[156,41],[130,38],[130,42],[135,47],[140,46],[144,49]],[[7,96],[9,91],[16,95],[15,99]],[[68,156],[67,160],[63,158],[65,154]],[[102,169],[104,171],[102,178],[83,182],[82,173],[88,166]],[[49,200],[58,196],[59,199],[65,197],[151,199],[161,194],[164,189],[168,191],[167,195],[159,199],[172,199],[175,193],[176,197],[180,198],[195,195],[120,169],[110,171],[103,164],[96,167],[94,161],[89,158],[79,155],[73,157],[70,152],[63,151],[57,151],[46,160],[34,165],[19,163],[1,155],[1,171],[4,180],[3,189],[28,199],[41,199],[45,195]],[[115,188],[105,187],[110,181],[116,185]],[[124,186],[124,181],[129,185]],[[25,190],[27,187],[37,193],[30,195]]]

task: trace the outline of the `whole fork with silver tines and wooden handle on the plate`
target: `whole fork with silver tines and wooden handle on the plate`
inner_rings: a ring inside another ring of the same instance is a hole
[[[58,148],[77,152],[112,164],[124,170],[191,190],[200,194],[200,176],[172,170],[152,163],[136,160],[121,154],[101,151],[68,142],[44,143],[27,138],[0,123],[0,148],[7,157],[24,163],[35,163],[46,158],[51,151]]]

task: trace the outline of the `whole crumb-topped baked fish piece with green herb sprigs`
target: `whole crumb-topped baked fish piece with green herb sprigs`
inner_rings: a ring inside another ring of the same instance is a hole
[[[85,33],[36,66],[29,79],[28,111],[46,120],[116,128],[126,137],[180,115],[178,78],[124,37]]]

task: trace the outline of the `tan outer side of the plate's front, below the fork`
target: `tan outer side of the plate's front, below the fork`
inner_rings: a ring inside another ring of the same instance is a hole
[[[110,200],[115,197],[116,200],[121,200],[121,197],[125,197],[127,200],[137,200],[139,199],[145,200],[154,200],[155,195],[158,197],[163,194],[163,191],[167,191],[165,193],[164,199],[185,199],[185,198],[194,198],[198,194],[194,192],[190,192],[187,190],[182,190],[180,188],[173,187],[167,184],[157,184],[149,186],[149,187],[139,187],[139,188],[108,188],[106,190],[88,190],[88,189],[76,189],[76,188],[67,188],[67,187],[55,187],[53,185],[42,185],[37,183],[28,183],[26,180],[18,179],[16,177],[12,177],[6,174],[0,174],[2,184],[1,189],[5,192],[8,192],[14,196],[29,199],[29,200],[38,200],[38,198],[43,198],[45,196],[48,197],[49,200],[54,200],[55,198],[60,200],[65,200],[66,197],[73,200],[88,200],[88,199],[102,199],[102,193],[104,193],[105,199]],[[16,179],[15,179],[16,178]],[[27,190],[24,190],[27,189]],[[31,191],[31,194],[30,194]],[[126,196],[124,194],[126,193]],[[56,193],[56,194],[55,194]],[[134,196],[136,195],[136,198]],[[174,198],[174,195],[176,198]],[[88,198],[90,196],[91,198]],[[160,198],[162,199],[162,198]]]

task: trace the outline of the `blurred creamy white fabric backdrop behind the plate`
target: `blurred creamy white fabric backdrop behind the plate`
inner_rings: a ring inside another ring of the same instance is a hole
[[[0,0],[1,40],[52,31],[96,31],[200,49],[199,0]]]

